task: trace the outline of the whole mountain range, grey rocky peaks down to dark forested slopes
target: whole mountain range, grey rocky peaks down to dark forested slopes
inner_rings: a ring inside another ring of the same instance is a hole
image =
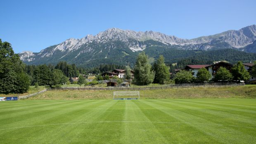
[[[256,53],[256,25],[195,39],[181,39],[153,31],[136,32],[111,28],[81,39],[67,39],[38,53],[23,51],[19,56],[27,64],[56,64],[59,61],[67,61],[93,67],[103,63],[133,64],[141,51],[149,54],[152,61],[159,54],[163,54],[167,60],[173,62],[177,56],[188,57],[190,53],[197,53],[197,51],[222,49],[235,49],[243,54]],[[168,55],[168,53],[171,54]],[[175,56],[175,53],[187,54]],[[218,56],[215,60],[218,60]]]

